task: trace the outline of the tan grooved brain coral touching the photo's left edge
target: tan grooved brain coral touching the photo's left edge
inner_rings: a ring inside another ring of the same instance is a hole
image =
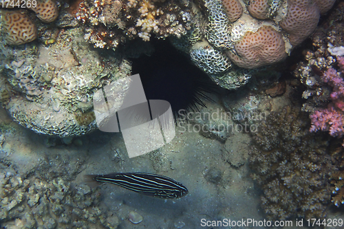
[[[37,37],[36,25],[21,10],[1,10],[5,40],[9,45],[21,45]]]

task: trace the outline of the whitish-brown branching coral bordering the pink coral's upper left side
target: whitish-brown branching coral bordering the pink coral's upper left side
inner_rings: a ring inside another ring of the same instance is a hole
[[[343,15],[344,4],[338,3],[336,10],[314,32],[312,50],[303,52],[305,60],[294,71],[295,76],[307,87],[302,96],[307,99],[303,105],[304,111],[314,112],[316,107],[325,107],[330,100],[330,88],[321,80],[321,76],[336,64],[337,53],[332,54],[332,50],[344,45]]]

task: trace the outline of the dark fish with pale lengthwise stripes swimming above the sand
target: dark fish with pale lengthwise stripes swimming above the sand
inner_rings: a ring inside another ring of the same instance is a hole
[[[170,177],[152,173],[111,173],[107,175],[85,175],[89,184],[92,182],[106,182],[116,184],[134,192],[152,197],[165,199],[180,198],[189,190]]]

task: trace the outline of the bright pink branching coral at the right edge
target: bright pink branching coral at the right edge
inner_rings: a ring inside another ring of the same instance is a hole
[[[340,72],[330,68],[323,74],[323,82],[332,87],[330,97],[332,102],[327,109],[319,109],[310,115],[312,121],[311,132],[329,131],[333,137],[344,135],[344,80],[341,74],[344,73],[344,57],[337,58]]]

